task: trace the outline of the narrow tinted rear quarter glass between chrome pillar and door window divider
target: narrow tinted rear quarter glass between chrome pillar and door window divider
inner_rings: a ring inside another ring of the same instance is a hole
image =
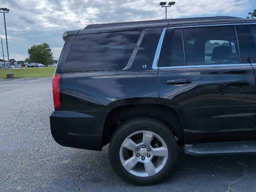
[[[181,29],[167,29],[162,44],[159,67],[184,66]]]

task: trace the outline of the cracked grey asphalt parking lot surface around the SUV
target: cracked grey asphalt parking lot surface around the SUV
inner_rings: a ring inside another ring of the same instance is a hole
[[[196,157],[179,148],[176,170],[133,186],[101,152],[59,146],[51,136],[52,78],[0,79],[0,191],[255,192],[256,155]],[[75,126],[75,125],[74,125]]]

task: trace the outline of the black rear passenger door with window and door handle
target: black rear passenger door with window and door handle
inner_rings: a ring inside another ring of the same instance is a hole
[[[250,140],[256,90],[242,24],[165,30],[153,68],[161,104],[179,113],[186,142]]]

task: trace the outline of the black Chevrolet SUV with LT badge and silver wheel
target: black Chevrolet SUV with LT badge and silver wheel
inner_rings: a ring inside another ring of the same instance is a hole
[[[52,136],[101,150],[154,184],[187,154],[256,152],[256,20],[226,16],[93,24],[64,32]]]

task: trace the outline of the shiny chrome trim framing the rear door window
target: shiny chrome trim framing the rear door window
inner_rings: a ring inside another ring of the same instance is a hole
[[[251,65],[251,64],[220,64],[220,65],[194,65],[194,66],[191,65],[191,66],[158,67],[160,52],[161,52],[162,44],[164,41],[164,35],[165,35],[165,32],[167,29],[211,27],[211,26],[232,26],[232,25],[242,25],[242,22],[241,23],[229,23],[229,24],[210,24],[210,25],[179,26],[179,27],[164,28],[162,31],[162,34],[160,36],[157,48],[156,48],[156,53],[155,53],[154,61],[152,64],[152,69],[176,69],[176,68],[225,67],[225,66],[248,66],[248,65]],[[182,36],[182,40],[183,40],[183,36]],[[184,47],[184,44],[183,44],[183,47]],[[186,59],[186,57],[185,57],[185,59]]]

